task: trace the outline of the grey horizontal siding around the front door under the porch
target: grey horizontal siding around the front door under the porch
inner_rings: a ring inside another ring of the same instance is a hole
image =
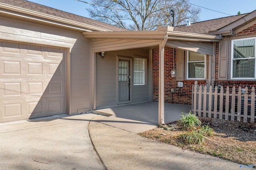
[[[104,59],[96,54],[96,107],[116,106],[116,61],[117,56],[133,57],[142,56],[148,57],[149,52],[142,49],[129,49],[122,51],[109,51],[105,53]],[[149,59],[147,59],[149,61]],[[146,76],[148,76],[149,65],[146,66]],[[133,75],[133,71],[132,71]],[[149,101],[149,77],[146,78],[146,85],[131,85],[132,87],[132,103]]]

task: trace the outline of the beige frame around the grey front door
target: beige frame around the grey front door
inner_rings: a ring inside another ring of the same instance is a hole
[[[129,101],[121,101],[119,102],[119,60],[129,60],[130,61],[130,100]],[[132,103],[132,57],[125,57],[125,56],[119,56],[116,57],[116,103],[117,104],[125,104],[125,103]]]

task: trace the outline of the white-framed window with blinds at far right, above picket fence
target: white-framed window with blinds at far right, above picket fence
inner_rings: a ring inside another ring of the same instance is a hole
[[[255,79],[255,38],[232,40],[231,79]]]

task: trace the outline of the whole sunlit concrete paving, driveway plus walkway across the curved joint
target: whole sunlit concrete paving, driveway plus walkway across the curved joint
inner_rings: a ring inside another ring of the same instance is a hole
[[[98,122],[106,118],[87,113],[1,123],[0,170],[240,169],[234,162],[143,138],[127,126],[119,128],[122,121],[119,127]]]

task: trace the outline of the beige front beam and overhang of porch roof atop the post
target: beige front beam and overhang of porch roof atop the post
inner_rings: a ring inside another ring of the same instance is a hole
[[[212,55],[212,42],[221,40],[219,36],[176,32],[172,27],[156,31],[83,32],[83,35],[92,39],[92,52],[152,47],[162,44],[167,36],[166,46]]]

